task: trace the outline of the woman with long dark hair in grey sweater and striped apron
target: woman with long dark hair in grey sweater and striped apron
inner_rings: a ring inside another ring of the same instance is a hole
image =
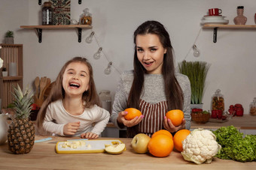
[[[190,129],[190,81],[175,73],[168,32],[160,22],[147,21],[134,32],[134,43],[134,70],[121,75],[111,121],[117,127],[127,127],[128,137],[137,133],[151,136],[161,129],[171,133]],[[129,107],[139,109],[142,116],[126,121],[123,110]],[[184,112],[178,127],[165,116],[172,109]]]

